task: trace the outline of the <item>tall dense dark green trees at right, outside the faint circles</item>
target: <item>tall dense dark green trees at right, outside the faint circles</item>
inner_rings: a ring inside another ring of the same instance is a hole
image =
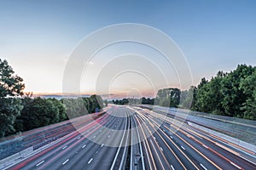
[[[192,109],[224,116],[256,119],[256,67],[238,65],[235,71],[218,71],[208,82],[198,85]]]

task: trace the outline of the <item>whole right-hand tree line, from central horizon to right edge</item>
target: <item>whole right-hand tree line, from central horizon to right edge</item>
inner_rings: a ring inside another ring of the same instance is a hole
[[[136,102],[130,102],[136,101]],[[180,107],[223,116],[256,120],[256,67],[238,65],[230,72],[218,71],[211,80],[202,78],[189,90],[160,89],[155,99],[121,99],[114,104],[148,104]]]

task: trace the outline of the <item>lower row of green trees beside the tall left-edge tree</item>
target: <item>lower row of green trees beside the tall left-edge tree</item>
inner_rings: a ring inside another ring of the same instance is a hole
[[[100,96],[78,99],[42,99],[25,97],[21,99],[20,116],[16,117],[13,133],[44,127],[66,121],[77,116],[100,111],[103,107]],[[8,134],[8,133],[7,133]]]

